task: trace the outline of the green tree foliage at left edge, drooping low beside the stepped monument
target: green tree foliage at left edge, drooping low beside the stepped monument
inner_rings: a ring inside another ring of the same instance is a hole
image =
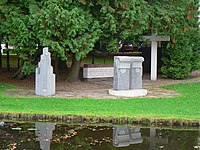
[[[36,44],[39,43],[33,32],[30,20],[30,10],[36,1],[1,1],[0,34],[3,41],[15,46],[15,52],[23,59],[23,64],[16,77],[23,79],[34,71],[40,55]]]

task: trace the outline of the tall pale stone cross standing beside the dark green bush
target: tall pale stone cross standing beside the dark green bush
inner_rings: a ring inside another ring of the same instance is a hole
[[[151,80],[157,80],[157,62],[158,62],[158,42],[170,41],[169,36],[143,36],[144,39],[151,41]]]

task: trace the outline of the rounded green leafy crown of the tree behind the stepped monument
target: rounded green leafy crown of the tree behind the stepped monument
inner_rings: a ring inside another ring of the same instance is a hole
[[[93,50],[101,30],[86,6],[63,0],[44,2],[31,18],[41,45],[63,59],[74,53],[77,60]],[[66,53],[67,52],[67,53]]]

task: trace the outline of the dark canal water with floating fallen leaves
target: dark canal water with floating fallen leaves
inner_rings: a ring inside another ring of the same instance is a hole
[[[0,149],[200,150],[200,130],[2,121]]]

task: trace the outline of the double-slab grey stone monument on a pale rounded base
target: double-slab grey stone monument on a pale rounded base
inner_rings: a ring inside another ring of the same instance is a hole
[[[113,89],[109,94],[123,97],[138,97],[147,95],[142,89],[143,57],[115,56]]]

